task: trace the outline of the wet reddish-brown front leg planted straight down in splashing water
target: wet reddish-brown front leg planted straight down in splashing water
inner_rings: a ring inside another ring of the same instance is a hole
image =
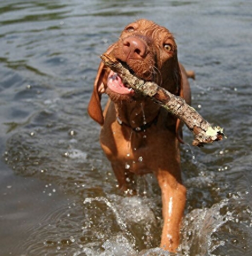
[[[156,173],[162,193],[163,230],[160,247],[170,252],[176,252],[179,245],[180,223],[186,204],[186,188],[168,171]]]

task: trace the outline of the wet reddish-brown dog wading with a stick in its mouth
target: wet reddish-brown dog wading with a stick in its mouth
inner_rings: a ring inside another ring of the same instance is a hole
[[[189,73],[178,63],[174,37],[165,27],[148,20],[131,23],[107,53],[128,64],[136,76],[154,81],[190,104]],[[104,92],[110,100],[102,113],[100,99]],[[160,247],[175,252],[186,203],[180,171],[179,121],[124,86],[120,77],[102,63],[88,112],[102,126],[100,144],[121,190],[133,191],[134,174],[155,173],[162,192],[164,219]]]

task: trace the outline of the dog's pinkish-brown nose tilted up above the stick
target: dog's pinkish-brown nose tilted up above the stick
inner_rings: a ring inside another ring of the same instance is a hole
[[[142,59],[146,56],[147,45],[137,37],[128,37],[123,41],[123,51],[127,59]]]

